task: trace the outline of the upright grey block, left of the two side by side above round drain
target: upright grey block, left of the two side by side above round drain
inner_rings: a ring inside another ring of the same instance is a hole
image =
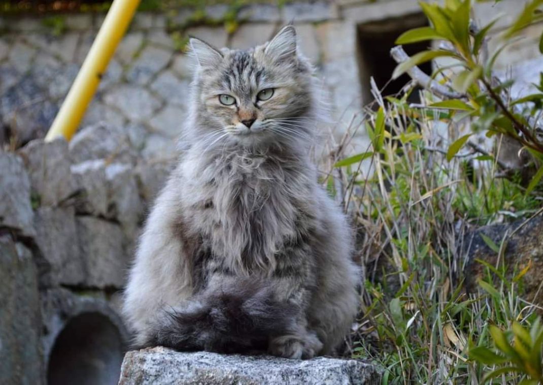
[[[36,243],[50,266],[51,282],[80,285],[85,280],[73,207],[40,207],[35,212]]]

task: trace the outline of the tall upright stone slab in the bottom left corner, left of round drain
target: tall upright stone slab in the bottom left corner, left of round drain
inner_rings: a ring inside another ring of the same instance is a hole
[[[0,383],[44,383],[36,267],[31,252],[5,236],[0,237],[0,283]]]

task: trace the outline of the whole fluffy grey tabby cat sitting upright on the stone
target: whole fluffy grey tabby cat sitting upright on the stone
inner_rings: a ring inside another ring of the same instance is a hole
[[[294,27],[247,51],[191,39],[178,166],[125,290],[139,346],[333,353],[358,308],[351,229],[317,183],[313,70]]]

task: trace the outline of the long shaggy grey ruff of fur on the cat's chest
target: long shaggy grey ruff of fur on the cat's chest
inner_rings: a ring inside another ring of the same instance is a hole
[[[184,215],[231,269],[274,269],[286,244],[314,218],[306,167],[273,156],[233,154],[187,168]]]

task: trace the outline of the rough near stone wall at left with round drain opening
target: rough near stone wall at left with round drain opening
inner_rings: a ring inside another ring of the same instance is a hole
[[[0,170],[0,383],[116,383],[121,289],[169,164],[98,124],[0,150]]]

